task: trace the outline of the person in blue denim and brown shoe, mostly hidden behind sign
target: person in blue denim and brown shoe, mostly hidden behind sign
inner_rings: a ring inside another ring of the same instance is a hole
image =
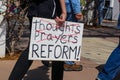
[[[67,10],[67,21],[78,22],[82,19],[80,0],[65,0]],[[76,65],[73,61],[65,61],[65,70],[82,70],[82,65]]]

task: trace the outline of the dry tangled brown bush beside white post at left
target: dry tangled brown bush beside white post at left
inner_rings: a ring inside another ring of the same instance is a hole
[[[0,0],[0,24],[6,24],[6,53],[14,55],[15,46],[20,41],[25,28],[25,11],[27,8],[21,7],[20,0]],[[6,7],[6,10],[3,8]],[[3,11],[3,10],[4,11]]]

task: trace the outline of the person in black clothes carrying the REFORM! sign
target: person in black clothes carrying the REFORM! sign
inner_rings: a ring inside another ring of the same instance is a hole
[[[26,4],[26,0],[23,5]],[[30,29],[33,17],[42,17],[55,19],[57,25],[62,25],[66,19],[66,7],[64,0],[29,0],[28,1],[28,18]],[[25,73],[32,64],[32,60],[28,60],[29,45],[17,60],[8,80],[22,80]],[[63,80],[63,64],[62,61],[52,62],[52,80]]]

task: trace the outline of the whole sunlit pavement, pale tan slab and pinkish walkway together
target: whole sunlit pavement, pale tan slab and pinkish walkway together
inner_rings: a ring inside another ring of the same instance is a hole
[[[25,39],[27,41],[27,39]],[[24,44],[24,43],[23,43]],[[117,46],[118,38],[84,37],[81,53],[82,71],[64,71],[64,80],[95,80],[101,66],[105,63],[112,50]],[[25,47],[22,47],[22,49]],[[0,61],[0,80],[8,80],[8,76],[16,60]],[[51,67],[46,68],[40,61],[34,61],[25,80],[51,80]]]

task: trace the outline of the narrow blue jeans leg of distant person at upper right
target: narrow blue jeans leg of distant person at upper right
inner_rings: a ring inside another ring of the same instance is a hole
[[[98,24],[101,25],[103,21],[103,8],[104,8],[104,0],[99,0],[98,5]]]

